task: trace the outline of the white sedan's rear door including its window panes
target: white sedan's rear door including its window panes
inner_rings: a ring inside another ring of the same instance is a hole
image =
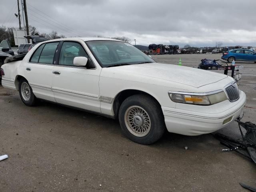
[[[52,79],[54,77],[54,55],[58,52],[59,42],[40,45],[28,62],[22,63],[22,70],[36,97],[53,101]]]

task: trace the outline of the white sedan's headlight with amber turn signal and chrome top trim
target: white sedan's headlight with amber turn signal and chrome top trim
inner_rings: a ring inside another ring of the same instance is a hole
[[[209,93],[182,93],[182,92],[169,92],[169,96],[173,102],[186,103],[194,105],[212,105],[215,103],[227,100],[224,91],[209,92]]]

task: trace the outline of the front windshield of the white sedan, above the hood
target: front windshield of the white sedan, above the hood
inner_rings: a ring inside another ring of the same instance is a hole
[[[126,42],[95,40],[87,41],[86,44],[102,67],[155,62],[148,55]]]

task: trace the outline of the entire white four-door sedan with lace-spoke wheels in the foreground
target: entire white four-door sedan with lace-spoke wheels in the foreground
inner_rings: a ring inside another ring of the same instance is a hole
[[[18,59],[17,59],[18,60]],[[38,99],[118,118],[124,134],[151,144],[169,132],[200,135],[242,118],[246,95],[233,78],[156,63],[126,42],[63,38],[7,59],[2,85],[27,106]]]

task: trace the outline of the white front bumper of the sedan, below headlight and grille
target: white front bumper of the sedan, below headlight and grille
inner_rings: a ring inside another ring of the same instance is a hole
[[[226,105],[225,102],[229,102],[229,104]],[[162,107],[162,111],[168,132],[195,136],[214,132],[226,127],[238,117],[242,118],[245,103],[246,95],[240,91],[240,98],[236,102],[226,100],[212,106],[202,106],[204,108],[202,111],[208,111],[209,113],[168,107]],[[207,107],[209,110],[207,110]],[[224,123],[227,119],[228,122]]]

